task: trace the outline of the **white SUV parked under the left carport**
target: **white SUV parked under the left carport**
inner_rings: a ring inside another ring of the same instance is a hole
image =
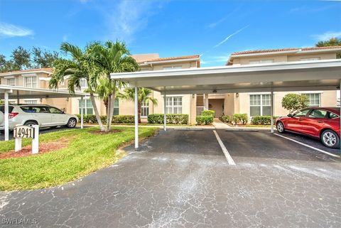
[[[0,105],[0,130],[4,131],[4,105]],[[62,110],[46,104],[10,104],[9,105],[9,129],[16,124],[40,127],[67,126],[73,128],[78,121],[77,116],[66,114]]]

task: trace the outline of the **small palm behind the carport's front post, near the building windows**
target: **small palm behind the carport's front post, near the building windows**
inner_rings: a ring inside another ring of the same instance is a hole
[[[118,98],[121,99],[130,99],[134,101],[135,99],[135,88],[125,88],[123,93],[119,92],[117,94]],[[148,102],[152,102],[153,104],[158,104],[158,100],[156,98],[151,97],[151,89],[139,88],[138,89],[138,111],[139,111],[139,123],[141,123],[141,109],[142,103],[148,104]]]

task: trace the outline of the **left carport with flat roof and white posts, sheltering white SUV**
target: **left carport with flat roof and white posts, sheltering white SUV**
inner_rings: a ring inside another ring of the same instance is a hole
[[[5,101],[4,130],[5,141],[9,140],[9,99],[40,99],[40,98],[63,98],[63,97],[84,97],[89,96],[85,92],[75,92],[70,94],[67,90],[38,89],[29,87],[19,87],[10,85],[0,85],[0,99]],[[82,104],[82,102],[81,102]],[[83,109],[81,107],[80,127],[83,128]]]

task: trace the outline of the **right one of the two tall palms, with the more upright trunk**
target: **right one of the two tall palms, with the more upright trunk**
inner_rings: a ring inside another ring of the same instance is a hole
[[[104,94],[107,97],[107,131],[110,131],[116,92],[125,85],[121,80],[112,80],[110,73],[136,71],[139,65],[130,56],[125,43],[119,41],[108,40],[104,45],[96,43],[92,45],[90,53],[91,60],[106,75]]]

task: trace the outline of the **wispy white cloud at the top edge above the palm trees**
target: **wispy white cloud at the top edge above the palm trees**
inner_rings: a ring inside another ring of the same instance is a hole
[[[148,18],[162,8],[161,1],[122,0],[105,17],[109,26],[109,37],[129,43],[137,32],[148,26]]]

